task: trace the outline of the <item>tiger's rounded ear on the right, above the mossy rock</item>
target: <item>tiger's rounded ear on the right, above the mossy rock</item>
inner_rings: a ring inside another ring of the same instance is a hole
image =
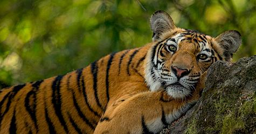
[[[224,49],[223,55],[226,61],[231,60],[232,55],[236,53],[242,43],[241,34],[235,30],[223,32],[215,38],[215,41]]]

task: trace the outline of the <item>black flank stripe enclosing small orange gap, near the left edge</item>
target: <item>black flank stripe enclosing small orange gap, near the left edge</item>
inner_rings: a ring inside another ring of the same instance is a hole
[[[36,118],[36,102],[37,102],[36,92],[42,82],[43,82],[43,80],[40,80],[40,81],[36,81],[34,84],[32,84],[33,88],[29,93],[27,93],[26,98],[25,98],[25,103],[24,103],[27,112],[30,114],[31,119],[34,122],[34,126],[36,127],[37,132],[38,132],[38,125],[37,125],[37,118]],[[33,106],[30,106],[30,103],[29,103],[31,95],[33,95],[32,96]]]

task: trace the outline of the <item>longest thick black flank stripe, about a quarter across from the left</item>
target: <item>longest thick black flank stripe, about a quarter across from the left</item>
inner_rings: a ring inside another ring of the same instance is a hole
[[[52,83],[52,104],[61,125],[64,127],[66,133],[68,133],[67,124],[61,113],[60,83],[62,78],[63,76],[57,76]]]

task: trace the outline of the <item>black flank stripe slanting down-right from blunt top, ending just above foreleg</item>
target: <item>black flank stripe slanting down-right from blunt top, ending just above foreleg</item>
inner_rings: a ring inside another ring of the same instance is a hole
[[[98,64],[97,64],[97,61],[95,61],[91,64],[91,72],[92,72],[92,75],[93,75],[93,89],[94,89],[95,100],[96,100],[98,106],[102,110],[104,110],[105,108],[100,103],[99,96],[98,96],[98,90],[97,90],[97,83],[98,83],[98,78],[97,78]]]

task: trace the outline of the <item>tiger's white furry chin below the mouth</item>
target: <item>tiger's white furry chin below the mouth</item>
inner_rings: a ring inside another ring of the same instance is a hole
[[[174,99],[184,99],[186,96],[191,94],[189,88],[184,87],[179,83],[171,84],[164,88],[167,91],[167,94],[172,96]]]

